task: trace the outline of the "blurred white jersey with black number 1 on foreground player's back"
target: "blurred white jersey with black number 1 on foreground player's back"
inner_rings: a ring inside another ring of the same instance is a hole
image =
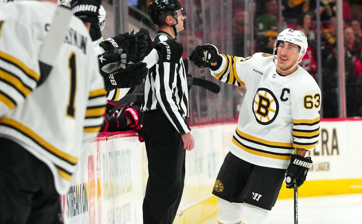
[[[39,52],[56,7],[19,1],[0,8],[0,137],[46,163],[63,194],[82,149],[100,130],[106,92],[92,39],[75,16],[49,77],[37,86]]]

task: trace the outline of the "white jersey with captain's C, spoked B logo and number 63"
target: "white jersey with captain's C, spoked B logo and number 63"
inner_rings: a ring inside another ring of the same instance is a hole
[[[247,89],[230,146],[232,154],[255,165],[286,169],[294,147],[315,147],[321,93],[306,70],[297,65],[294,73],[281,76],[273,56],[266,53],[221,56],[221,66],[211,74]]]

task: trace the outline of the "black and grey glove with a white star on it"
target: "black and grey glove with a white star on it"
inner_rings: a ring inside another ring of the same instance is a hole
[[[130,62],[130,55],[122,48],[116,48],[98,55],[99,68],[104,72],[102,75],[108,76],[108,73],[126,68]],[[106,73],[106,74],[105,74]]]

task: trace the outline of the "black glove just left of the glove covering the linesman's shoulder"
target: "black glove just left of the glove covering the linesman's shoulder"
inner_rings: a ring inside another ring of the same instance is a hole
[[[141,28],[139,31],[131,32],[138,39],[138,60],[143,60],[153,49],[153,41],[150,37],[150,32],[147,29]]]

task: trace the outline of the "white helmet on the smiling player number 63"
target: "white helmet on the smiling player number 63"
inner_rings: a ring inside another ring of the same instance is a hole
[[[282,32],[280,32],[277,39],[274,42],[274,51],[273,51],[274,63],[277,57],[276,52],[281,42],[289,42],[292,44],[296,44],[300,47],[299,58],[298,61],[296,62],[296,64],[299,64],[302,61],[303,56],[306,54],[308,48],[307,36],[302,31],[299,30],[285,29]]]

